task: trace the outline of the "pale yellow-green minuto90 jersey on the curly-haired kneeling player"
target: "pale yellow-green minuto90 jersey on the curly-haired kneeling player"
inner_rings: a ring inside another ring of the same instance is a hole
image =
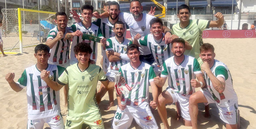
[[[69,66],[57,80],[60,85],[69,84],[68,116],[84,117],[99,111],[96,87],[98,81],[106,80],[103,70],[95,64],[89,64],[84,71],[78,63]]]

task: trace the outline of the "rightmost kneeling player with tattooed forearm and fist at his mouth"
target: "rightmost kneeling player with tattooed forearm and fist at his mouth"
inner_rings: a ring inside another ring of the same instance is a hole
[[[189,98],[189,114],[193,129],[197,129],[198,103],[205,105],[215,103],[219,109],[220,118],[226,123],[227,129],[240,128],[238,98],[233,89],[232,77],[228,67],[221,61],[214,59],[214,47],[204,43],[200,47],[200,58],[203,61],[201,69],[204,71],[208,89],[197,91]]]

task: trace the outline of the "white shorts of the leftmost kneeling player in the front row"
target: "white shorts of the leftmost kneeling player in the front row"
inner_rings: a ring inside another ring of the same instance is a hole
[[[27,129],[42,129],[44,123],[47,123],[51,129],[64,129],[64,123],[62,115],[59,113],[57,115],[48,116],[40,119],[28,119]]]

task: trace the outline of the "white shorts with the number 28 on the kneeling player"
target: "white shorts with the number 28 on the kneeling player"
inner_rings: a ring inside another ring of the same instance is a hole
[[[140,107],[141,108],[141,107]],[[117,107],[117,111],[113,120],[113,129],[127,129],[131,126],[133,118],[136,123],[143,129],[158,129],[156,120],[147,106],[143,111],[130,112],[127,107],[121,111]]]

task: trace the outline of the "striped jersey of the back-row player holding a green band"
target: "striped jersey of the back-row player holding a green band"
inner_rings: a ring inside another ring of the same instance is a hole
[[[94,35],[100,38],[103,38],[102,33],[100,28],[91,23],[91,26],[89,29],[86,29],[86,27],[82,24],[82,22],[79,23],[75,23],[73,25],[71,25],[69,32],[75,32],[76,30],[80,30],[82,31],[84,34],[89,34],[89,35]],[[93,53],[91,53],[91,60],[94,60],[95,62],[97,61],[97,42],[95,41],[91,41],[91,40],[87,40],[87,39],[82,39],[82,36],[74,36],[72,39],[72,44],[71,44],[71,50],[70,50],[70,61],[71,65],[74,64],[73,62],[78,62],[77,59],[75,58],[75,53],[74,53],[74,47],[77,43],[80,42],[86,42],[89,43],[91,46],[91,49],[93,49]]]

